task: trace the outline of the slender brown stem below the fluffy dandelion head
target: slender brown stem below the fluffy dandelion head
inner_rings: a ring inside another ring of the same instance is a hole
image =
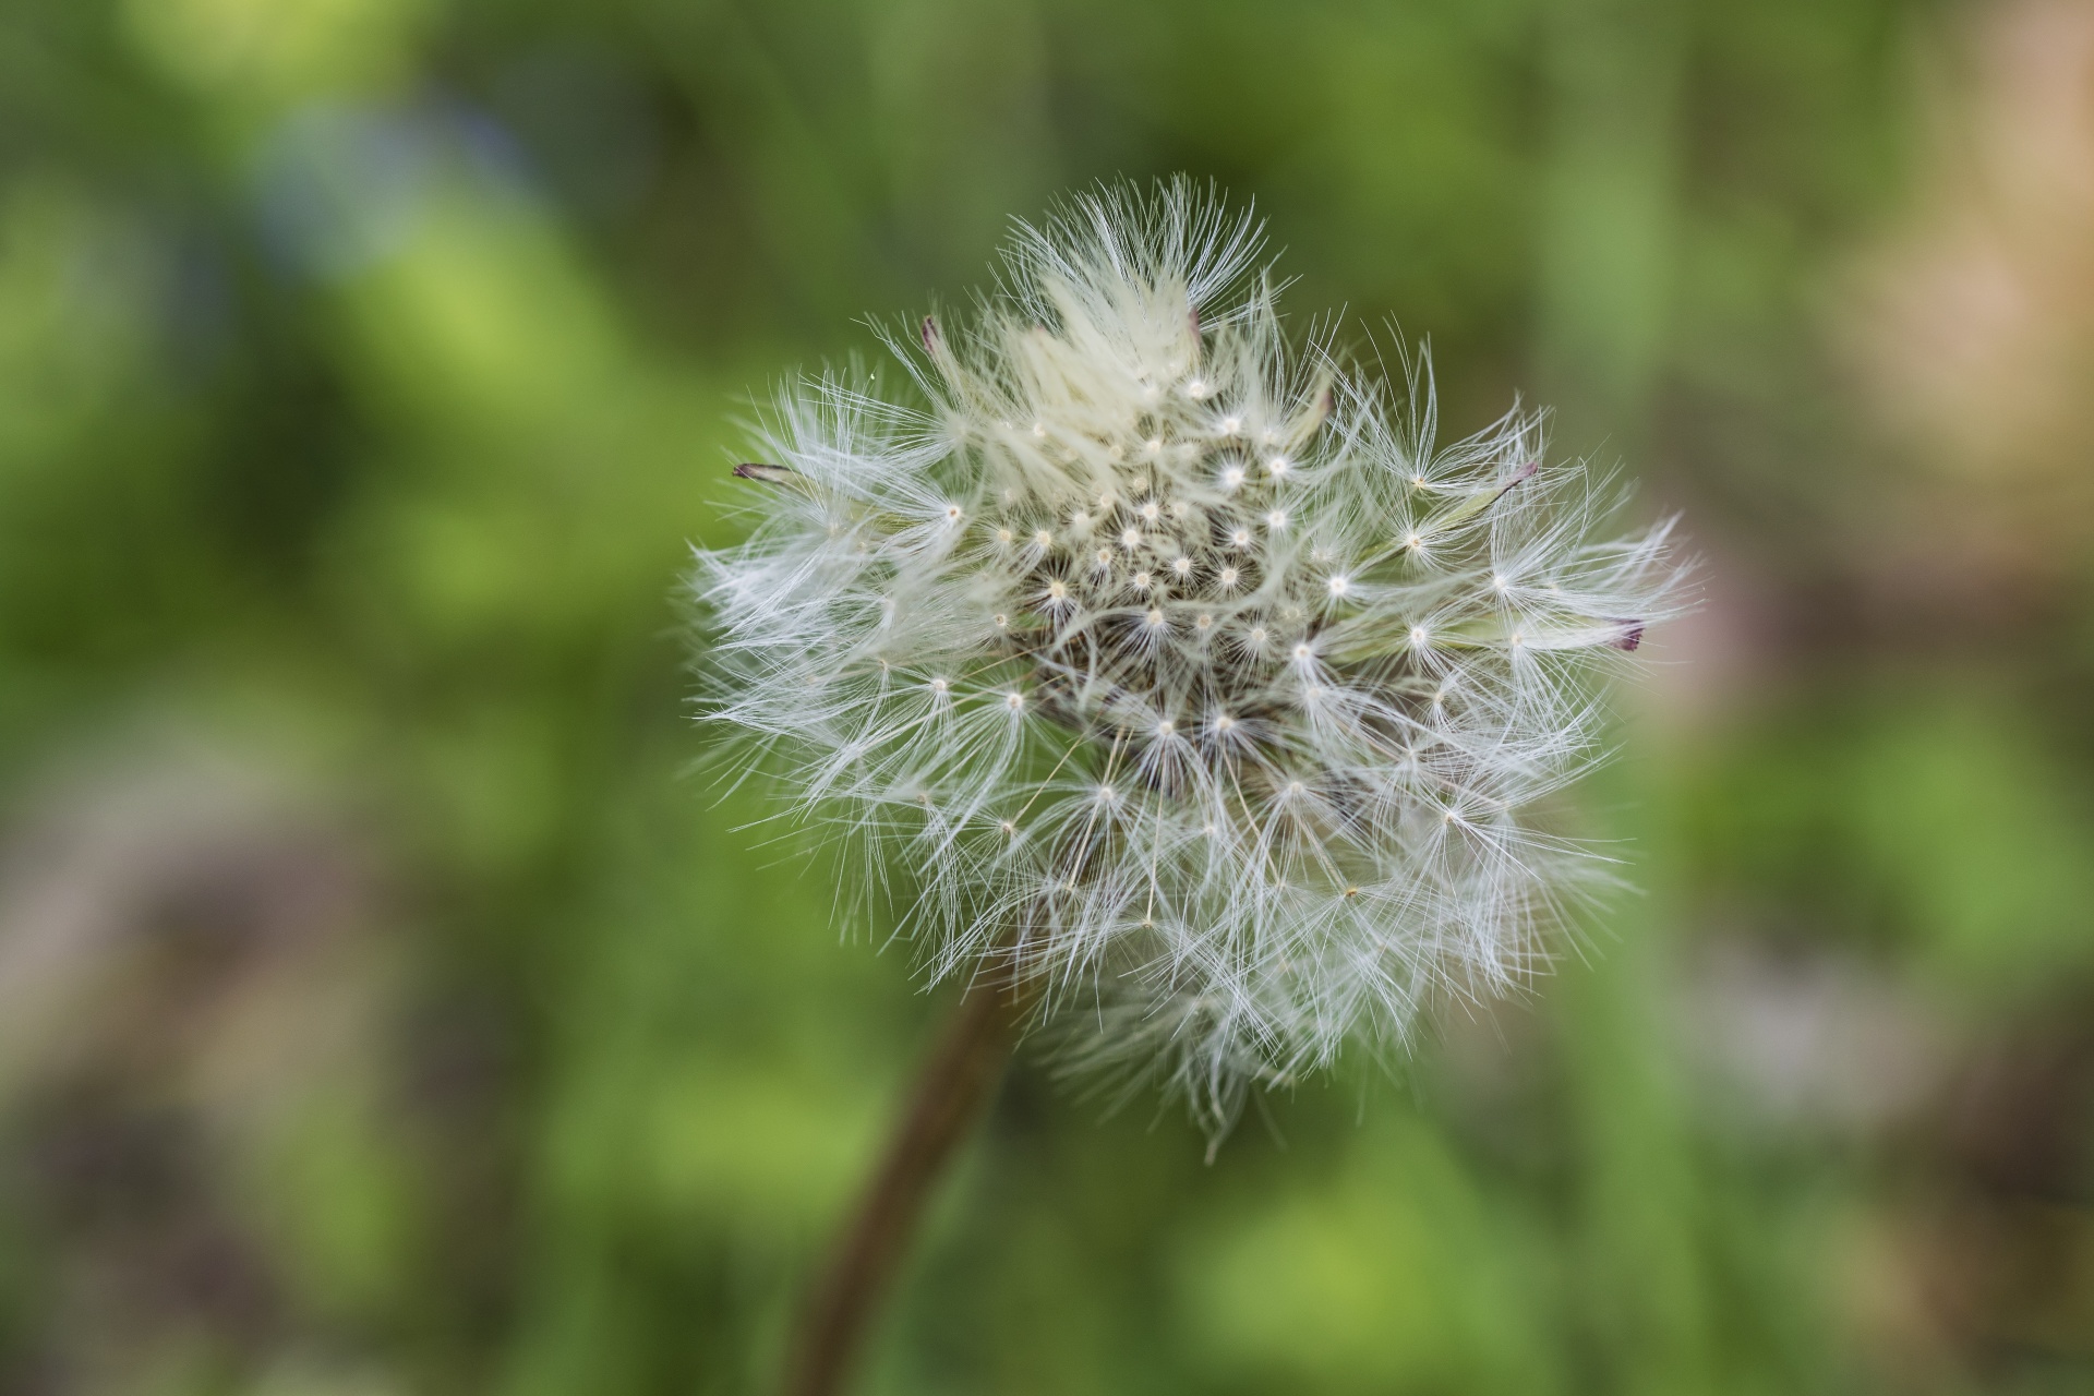
[[[1011,1055],[1011,1007],[974,986],[917,1074],[909,1111],[808,1296],[785,1356],[785,1396],[836,1396],[932,1187],[980,1118]]]

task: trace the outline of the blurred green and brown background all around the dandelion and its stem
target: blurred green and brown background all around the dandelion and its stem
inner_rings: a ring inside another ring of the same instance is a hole
[[[1686,511],[1642,892],[1212,1166],[1024,1059],[863,1390],[2094,1392],[2075,0],[0,4],[0,1392],[773,1381],[951,994],[691,774],[687,544],[1177,170]]]

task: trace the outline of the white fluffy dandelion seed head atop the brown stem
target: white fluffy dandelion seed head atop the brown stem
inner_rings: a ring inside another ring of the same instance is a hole
[[[1083,1059],[1217,1130],[1535,965],[1591,860],[1531,810],[1679,580],[1537,416],[1441,446],[1422,375],[1290,345],[1258,245],[1187,184],[1022,230],[976,322],[896,343],[917,400],[779,396],[695,584],[708,716],[909,873],[930,971],[1081,1000]]]

